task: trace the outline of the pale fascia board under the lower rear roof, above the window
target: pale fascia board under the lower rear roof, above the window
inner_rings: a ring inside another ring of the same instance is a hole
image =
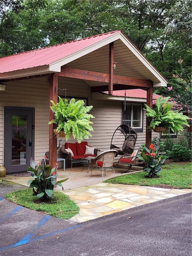
[[[92,100],[125,101],[125,98],[122,96],[111,96],[111,95],[102,94],[99,92],[92,92],[91,95],[92,95]],[[147,99],[126,97],[126,101],[135,102],[135,103],[145,103],[147,102]]]

